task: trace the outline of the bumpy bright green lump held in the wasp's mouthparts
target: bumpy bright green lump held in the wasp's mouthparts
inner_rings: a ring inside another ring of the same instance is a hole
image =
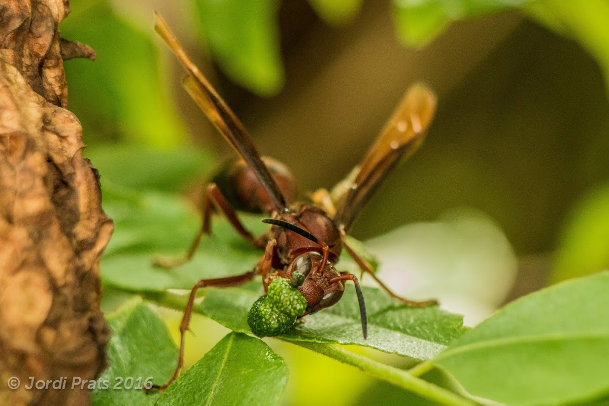
[[[247,324],[258,337],[280,335],[294,327],[296,319],[305,314],[307,301],[286,278],[270,282],[268,293],[252,305]]]

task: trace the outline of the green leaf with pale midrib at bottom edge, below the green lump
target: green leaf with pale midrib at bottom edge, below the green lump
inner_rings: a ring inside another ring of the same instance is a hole
[[[289,372],[263,341],[231,333],[188,369],[155,405],[276,405]]]

